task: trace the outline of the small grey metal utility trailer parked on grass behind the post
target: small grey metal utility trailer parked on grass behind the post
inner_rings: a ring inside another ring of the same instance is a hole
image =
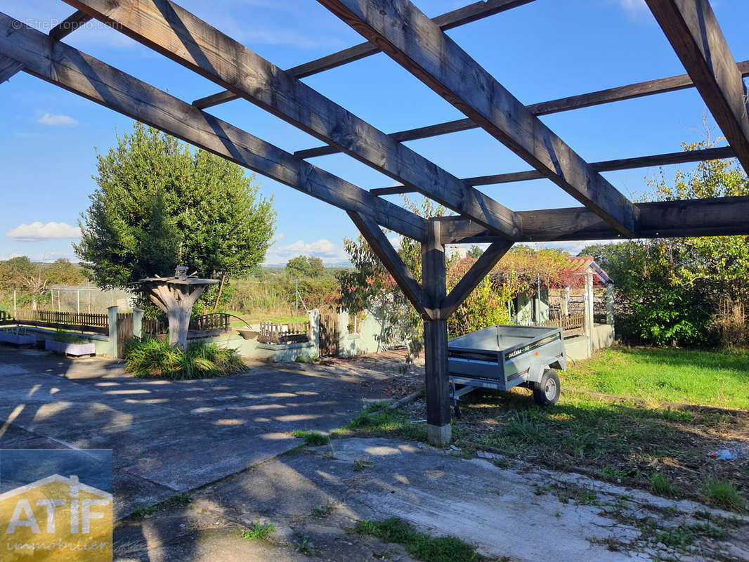
[[[455,415],[457,400],[476,388],[533,390],[540,405],[560,397],[560,378],[553,369],[567,370],[562,328],[491,326],[447,342],[448,369]]]

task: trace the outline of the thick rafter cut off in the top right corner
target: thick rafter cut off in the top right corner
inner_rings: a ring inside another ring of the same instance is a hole
[[[749,172],[747,88],[708,0],[646,0],[700,91],[715,122]]]

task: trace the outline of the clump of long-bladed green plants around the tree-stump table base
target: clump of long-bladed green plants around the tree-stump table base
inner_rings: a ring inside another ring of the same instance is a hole
[[[235,349],[215,343],[192,342],[187,350],[161,339],[132,339],[125,348],[128,371],[136,377],[164,377],[173,381],[213,378],[246,369]]]

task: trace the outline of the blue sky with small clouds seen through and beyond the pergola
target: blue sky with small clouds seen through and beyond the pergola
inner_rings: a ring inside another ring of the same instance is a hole
[[[282,68],[360,43],[362,38],[315,0],[183,0],[182,6]],[[416,0],[429,16],[470,1]],[[749,58],[749,2],[712,1],[734,58]],[[0,0],[0,11],[48,31],[73,9],[59,0]],[[642,0],[536,0],[449,31],[509,91],[536,103],[683,73],[663,32]],[[184,100],[221,88],[91,22],[66,43],[101,58]],[[457,109],[386,55],[304,81],[386,133],[461,118]],[[288,151],[321,143],[244,100],[209,110]],[[697,91],[658,94],[542,118],[591,162],[679,151],[701,139],[705,106]],[[95,148],[106,151],[115,129],[131,121],[115,112],[19,73],[0,85],[0,259],[73,259],[70,242],[79,214],[96,184]],[[718,134],[718,131],[715,132]],[[481,130],[407,143],[458,177],[528,169]],[[311,160],[365,189],[393,181],[349,157]],[[667,166],[667,177],[675,168]],[[656,169],[607,172],[627,195],[640,193]],[[300,253],[333,264],[345,260],[342,238],[357,231],[343,211],[267,178],[261,191],[275,195],[276,241],[267,256],[285,263]],[[481,187],[517,211],[578,205],[546,180]],[[392,196],[393,202],[400,202]],[[565,244],[569,250],[580,246]]]

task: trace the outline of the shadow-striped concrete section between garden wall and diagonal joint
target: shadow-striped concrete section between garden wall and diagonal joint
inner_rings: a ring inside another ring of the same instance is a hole
[[[0,347],[0,448],[112,449],[119,518],[295,447],[296,429],[345,425],[398,375],[394,363],[369,364],[172,382],[132,378],[117,361]]]

